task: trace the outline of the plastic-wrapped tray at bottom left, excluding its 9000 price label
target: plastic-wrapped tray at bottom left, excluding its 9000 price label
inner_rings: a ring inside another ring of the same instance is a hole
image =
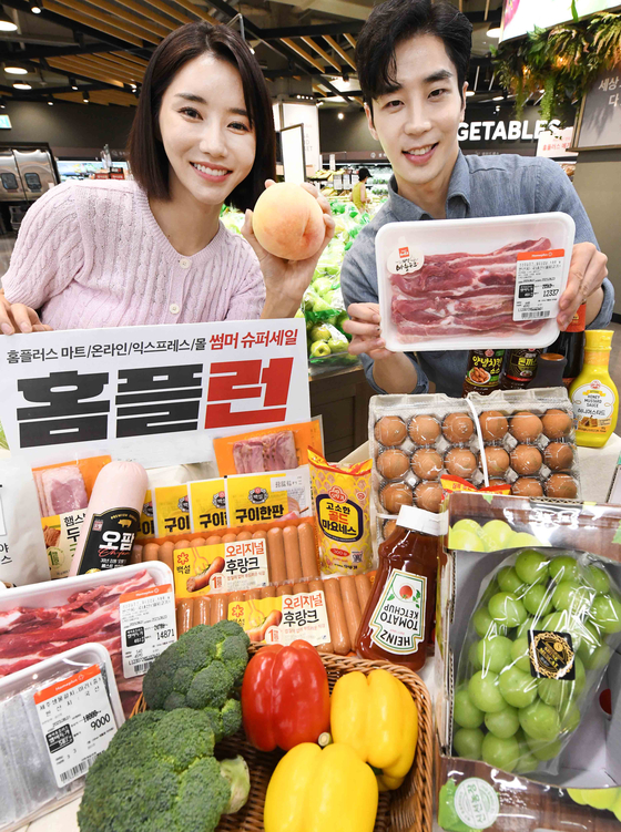
[[[51,736],[43,733],[34,697],[91,667],[101,672],[111,716],[119,728],[124,722],[123,709],[110,655],[99,644],[81,645],[0,680],[1,832],[20,829],[82,792],[89,763],[82,763],[80,771],[72,772],[67,784],[59,787],[50,757]],[[113,730],[109,731],[110,739],[112,736]]]

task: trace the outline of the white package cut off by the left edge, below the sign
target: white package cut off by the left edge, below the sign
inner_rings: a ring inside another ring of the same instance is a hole
[[[50,579],[45,542],[30,466],[0,462],[0,583],[7,586]]]

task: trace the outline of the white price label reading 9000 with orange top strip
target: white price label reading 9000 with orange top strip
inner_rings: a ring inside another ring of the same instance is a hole
[[[116,732],[96,665],[34,694],[34,705],[59,789],[82,777]]]

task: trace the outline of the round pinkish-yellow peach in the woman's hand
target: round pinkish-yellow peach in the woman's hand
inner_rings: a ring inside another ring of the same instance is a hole
[[[266,188],[256,201],[253,230],[269,254],[286,260],[305,260],[322,247],[324,214],[303,187],[281,182]]]

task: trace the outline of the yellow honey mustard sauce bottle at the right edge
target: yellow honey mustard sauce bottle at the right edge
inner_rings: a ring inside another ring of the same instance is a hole
[[[617,427],[619,393],[608,372],[613,335],[607,329],[587,330],[582,371],[569,389],[578,420],[576,444],[581,448],[601,448]]]

